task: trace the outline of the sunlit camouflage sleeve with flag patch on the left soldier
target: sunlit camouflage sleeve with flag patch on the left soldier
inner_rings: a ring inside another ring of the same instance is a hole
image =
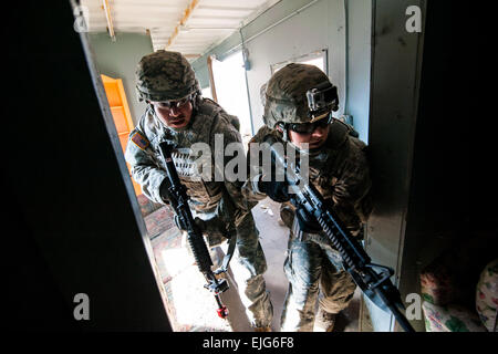
[[[159,186],[167,174],[158,167],[151,143],[138,127],[129,133],[125,158],[132,167],[132,177],[142,186],[143,194],[152,201],[165,204],[159,195]]]

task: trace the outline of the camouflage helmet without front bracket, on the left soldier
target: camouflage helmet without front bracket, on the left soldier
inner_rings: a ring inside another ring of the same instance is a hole
[[[178,52],[159,50],[145,55],[135,75],[139,101],[176,101],[200,94],[194,70]]]

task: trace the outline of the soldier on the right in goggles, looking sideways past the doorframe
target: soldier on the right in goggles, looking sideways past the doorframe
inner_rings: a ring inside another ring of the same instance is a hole
[[[262,143],[266,136],[272,135],[300,154],[307,154],[309,181],[331,202],[349,231],[362,238],[363,223],[372,209],[365,144],[353,136],[354,131],[349,125],[332,118],[332,111],[339,105],[336,87],[318,67],[292,63],[278,71],[261,94],[266,125],[249,144]],[[304,143],[309,144],[308,148]],[[323,296],[319,301],[317,324],[330,332],[336,314],[353,298],[356,285],[318,222],[309,216],[295,217],[287,184],[276,178],[264,181],[263,170],[257,168],[242,192],[251,202],[267,196],[282,202],[280,216],[290,228],[284,262],[289,289],[281,330],[313,331],[321,288]]]

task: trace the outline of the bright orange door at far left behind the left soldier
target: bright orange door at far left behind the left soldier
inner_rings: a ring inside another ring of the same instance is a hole
[[[128,135],[129,132],[133,131],[134,124],[123,88],[123,80],[113,79],[106,75],[101,75],[101,77],[104,83],[105,94],[107,95],[108,105],[111,107],[111,113],[114,118],[114,124],[116,125],[117,136],[120,137],[121,147],[124,154],[126,150],[126,144],[128,143]],[[129,171],[129,164],[126,165],[128,166]],[[129,177],[132,178],[132,176]],[[133,178],[132,181],[133,187],[135,188],[135,194],[137,196],[141,195],[141,186]]]

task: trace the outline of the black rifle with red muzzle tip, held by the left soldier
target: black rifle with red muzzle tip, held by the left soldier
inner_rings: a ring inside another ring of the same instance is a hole
[[[159,149],[165,162],[167,178],[169,181],[168,190],[169,196],[172,197],[169,200],[170,205],[175,210],[176,217],[180,219],[181,225],[186,226],[188,243],[190,244],[197,267],[207,281],[207,284],[205,284],[204,288],[215,294],[215,300],[218,304],[218,316],[226,319],[228,316],[228,310],[227,306],[222,304],[219,294],[228,290],[228,282],[225,279],[217,279],[211,270],[212,260],[203,238],[203,232],[194,221],[194,217],[188,205],[189,197],[187,195],[187,188],[185,188],[181,184],[175,163],[172,158],[173,146],[166,142],[163,142],[159,144]]]

